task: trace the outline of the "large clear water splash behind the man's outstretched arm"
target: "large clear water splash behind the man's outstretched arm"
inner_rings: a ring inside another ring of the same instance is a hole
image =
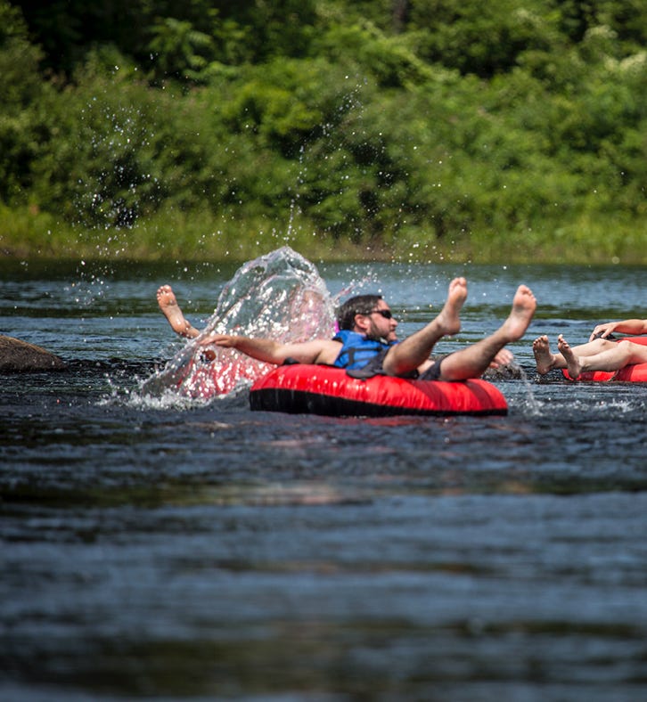
[[[239,392],[273,366],[221,347],[212,347],[216,357],[209,362],[199,345],[205,335],[233,333],[279,343],[330,338],[334,307],[315,265],[288,246],[276,249],[242,265],[220,293],[200,336],[145,380],[141,390],[153,396],[173,391],[197,400]]]

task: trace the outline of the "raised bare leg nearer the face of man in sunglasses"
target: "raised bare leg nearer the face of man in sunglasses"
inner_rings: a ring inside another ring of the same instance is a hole
[[[449,283],[445,306],[426,327],[389,350],[383,368],[388,375],[405,375],[429,359],[438,339],[461,331],[460,312],[467,298],[467,281],[455,278]]]

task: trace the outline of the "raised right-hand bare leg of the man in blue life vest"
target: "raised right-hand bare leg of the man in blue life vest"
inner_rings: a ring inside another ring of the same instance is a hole
[[[487,339],[446,356],[440,368],[440,380],[479,378],[506,344],[521,339],[526,333],[535,309],[532,290],[520,285],[512,299],[512,310],[501,327]]]

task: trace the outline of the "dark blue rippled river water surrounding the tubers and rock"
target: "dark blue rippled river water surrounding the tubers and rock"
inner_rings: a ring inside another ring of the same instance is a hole
[[[157,287],[200,326],[233,268],[0,265],[0,333],[69,364],[0,375],[0,698],[647,699],[647,386],[530,347],[645,316],[646,269],[320,265],[400,336],[465,274],[441,351],[538,300],[508,416],[366,420],[142,394]]]

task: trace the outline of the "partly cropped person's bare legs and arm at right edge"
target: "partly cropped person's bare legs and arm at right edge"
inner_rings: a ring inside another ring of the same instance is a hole
[[[544,334],[532,344],[537,372],[545,375],[555,368],[566,368],[571,380],[577,380],[583,372],[613,372],[634,363],[647,363],[647,346],[626,340],[616,341],[613,331],[629,335],[647,334],[647,319],[625,319],[598,324],[586,344],[572,348],[560,334],[557,354],[551,351],[548,337]]]

